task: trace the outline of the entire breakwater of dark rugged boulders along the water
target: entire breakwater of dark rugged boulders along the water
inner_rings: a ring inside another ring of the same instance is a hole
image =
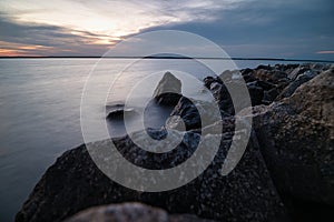
[[[250,114],[245,111],[245,115],[237,113],[235,117],[234,105],[237,104],[232,103],[225,84],[238,84],[240,78],[247,82],[254,108]],[[171,137],[183,137],[174,150],[151,153],[138,148],[129,137],[94,143],[98,150],[112,142],[128,161],[138,167],[169,169],[191,157],[200,138],[210,148],[214,138],[219,137],[220,145],[214,160],[195,180],[170,191],[134,191],[99,171],[84,144],[65,152],[47,170],[16,220],[62,221],[90,206],[137,201],[161,208],[171,215],[193,214],[196,220],[331,221],[334,178],[333,82],[333,67],[323,64],[261,65],[226,71],[220,78],[206,78],[204,84],[219,104],[222,120],[202,125],[191,102],[178,98],[171,114],[183,119],[186,132],[178,130],[177,118],[167,122],[166,128]],[[157,101],[163,100],[164,97]],[[198,103],[205,108],[205,102]],[[206,113],[209,118],[210,111]],[[245,153],[236,168],[223,176],[222,165],[230,149],[232,138],[243,133],[235,131],[235,119],[249,117],[254,118],[254,132],[250,133]],[[215,130],[220,129],[222,124],[222,131]],[[164,138],[166,134],[164,129],[149,131],[154,138]],[[145,133],[136,132],[134,138],[144,140]],[[167,144],[160,145],[163,149]],[[120,167],[114,167],[121,172]],[[79,218],[84,216],[80,220],[85,221],[92,215],[100,216],[101,211],[108,212],[106,208],[88,210],[80,213]],[[111,212],[122,212],[119,215],[138,213],[138,208],[112,208]],[[140,208],[144,213],[151,212],[147,216],[157,213],[148,211],[146,206]],[[302,210],[308,211],[306,216],[301,213]],[[165,211],[159,212],[164,214]],[[164,215],[167,216],[166,213]],[[136,219],[139,221],[140,216],[135,216],[134,221]],[[70,220],[76,220],[76,216]]]

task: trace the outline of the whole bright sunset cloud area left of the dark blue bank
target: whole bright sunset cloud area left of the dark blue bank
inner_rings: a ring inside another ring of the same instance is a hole
[[[236,8],[244,1],[2,0],[0,40],[7,42],[11,50],[18,47],[17,52],[20,53],[40,51],[45,56],[49,51],[50,56],[80,56],[88,50],[86,56],[100,56],[108,49],[107,46],[145,29],[212,22],[219,18],[215,12]],[[2,49],[2,54],[6,50]]]

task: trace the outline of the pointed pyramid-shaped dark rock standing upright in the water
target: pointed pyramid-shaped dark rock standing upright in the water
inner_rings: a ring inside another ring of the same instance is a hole
[[[181,82],[170,72],[166,72],[158,83],[153,98],[158,104],[176,105],[181,98]]]

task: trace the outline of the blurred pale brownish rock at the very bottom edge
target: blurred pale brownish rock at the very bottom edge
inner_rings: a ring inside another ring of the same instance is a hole
[[[65,222],[209,222],[190,214],[168,214],[143,203],[110,204],[84,210]]]

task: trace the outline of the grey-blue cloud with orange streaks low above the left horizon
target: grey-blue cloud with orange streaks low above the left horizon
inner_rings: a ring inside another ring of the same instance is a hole
[[[87,56],[101,54],[112,41],[104,44],[101,36],[57,26],[17,23],[0,16],[0,54],[11,56]]]

